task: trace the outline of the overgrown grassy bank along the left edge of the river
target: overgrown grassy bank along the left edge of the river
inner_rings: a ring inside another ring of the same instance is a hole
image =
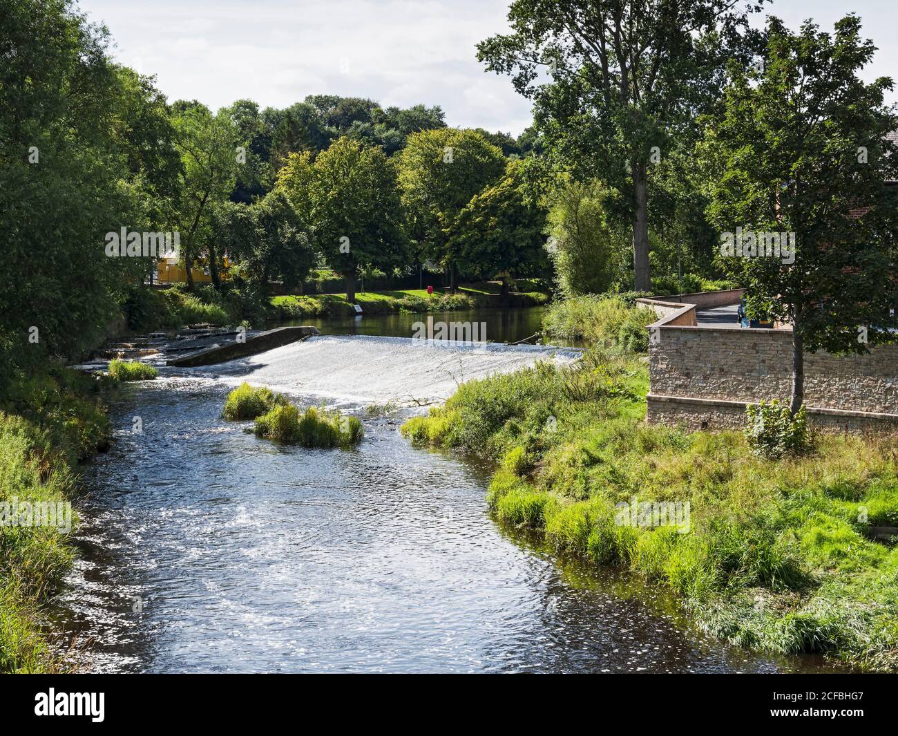
[[[100,386],[93,377],[59,369],[13,381],[4,392],[0,404],[2,672],[48,672],[63,667],[50,652],[40,618],[41,607],[71,566],[70,529],[58,517],[55,524],[35,523],[35,504],[65,508],[77,490],[78,464],[108,444],[110,424],[98,401]],[[74,515],[69,524],[75,524]]]

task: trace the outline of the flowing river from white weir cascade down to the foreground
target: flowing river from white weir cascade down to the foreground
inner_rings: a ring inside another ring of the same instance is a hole
[[[692,631],[621,573],[497,528],[489,467],[412,448],[399,425],[457,382],[575,353],[323,336],[163,369],[111,403],[85,469],[57,625],[88,671],[777,671]],[[418,341],[420,342],[420,341]],[[277,446],[220,418],[246,378],[297,403],[401,403],[355,449]],[[140,431],[135,431],[139,429]]]

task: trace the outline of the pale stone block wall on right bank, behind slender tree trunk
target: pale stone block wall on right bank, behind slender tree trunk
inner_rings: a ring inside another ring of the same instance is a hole
[[[747,403],[788,401],[791,330],[683,324],[686,315],[688,309],[670,311],[651,325],[657,330],[648,351],[648,421],[741,428]],[[898,429],[898,346],[851,356],[806,353],[805,403],[821,427]]]

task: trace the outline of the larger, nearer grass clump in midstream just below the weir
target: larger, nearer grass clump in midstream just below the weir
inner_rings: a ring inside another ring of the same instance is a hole
[[[306,448],[350,448],[362,439],[362,422],[314,406],[300,412],[286,403],[258,417],[255,432],[259,437]]]

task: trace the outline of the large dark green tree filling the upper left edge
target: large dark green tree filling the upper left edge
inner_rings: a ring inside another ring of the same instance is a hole
[[[0,0],[0,385],[101,341],[145,262],[104,235],[144,230],[172,141],[151,80],[110,62],[65,0]]]

